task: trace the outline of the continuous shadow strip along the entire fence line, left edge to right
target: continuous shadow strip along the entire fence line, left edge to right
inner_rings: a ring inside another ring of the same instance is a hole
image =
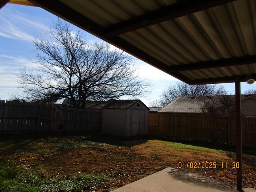
[[[32,149],[30,143],[31,142],[40,142],[40,140],[44,141],[52,141],[50,138],[56,138],[56,140],[61,140],[61,138],[70,138],[70,140],[74,141],[89,141],[95,142],[99,144],[110,144],[115,146],[127,146],[132,147],[139,144],[143,144],[148,142],[148,140],[157,139],[167,142],[176,142],[182,144],[188,144],[197,147],[211,148],[215,150],[222,150],[228,153],[234,152],[236,153],[236,146],[226,146],[223,144],[213,144],[213,143],[205,143],[199,141],[183,141],[183,140],[166,140],[161,138],[155,138],[152,136],[143,136],[143,137],[130,137],[123,138],[113,135],[105,135],[101,133],[70,133],[70,132],[60,132],[60,133],[24,133],[24,134],[13,134],[13,135],[3,135],[0,134],[0,140],[2,141],[2,145],[5,148],[8,148],[10,151],[19,151],[19,150],[29,150],[33,151],[36,149]],[[2,148],[0,144],[0,148]],[[230,153],[231,154],[231,153]],[[247,155],[256,155],[255,149],[243,148],[243,154]]]

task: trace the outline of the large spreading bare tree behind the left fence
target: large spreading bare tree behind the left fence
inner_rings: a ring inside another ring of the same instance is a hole
[[[86,100],[104,101],[122,96],[145,96],[150,83],[138,78],[133,57],[112,50],[106,43],[92,46],[81,31],[67,22],[54,23],[46,31],[51,39],[35,39],[37,68],[20,70],[21,94],[30,101],[54,103],[68,99],[76,108]]]

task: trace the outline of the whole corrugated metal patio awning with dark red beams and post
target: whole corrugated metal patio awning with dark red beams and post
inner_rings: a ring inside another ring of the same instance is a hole
[[[255,0],[10,2],[42,7],[190,85],[236,82],[237,119],[240,82],[256,78]],[[237,126],[241,148],[241,121]]]

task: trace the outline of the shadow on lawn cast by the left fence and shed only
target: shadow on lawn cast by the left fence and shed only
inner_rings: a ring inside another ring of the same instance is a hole
[[[122,138],[101,133],[26,133],[19,135],[0,135],[0,149],[11,153],[34,151],[49,144],[48,148],[72,148],[87,144],[109,144],[114,146],[132,147],[146,143],[140,137]],[[35,144],[32,144],[35,143]],[[0,150],[1,151],[1,150]]]

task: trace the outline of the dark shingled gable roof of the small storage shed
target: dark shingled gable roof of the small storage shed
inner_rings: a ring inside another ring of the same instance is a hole
[[[128,109],[129,107],[131,107],[137,102],[140,102],[145,107],[147,107],[143,102],[141,102],[141,100],[113,100],[112,102],[108,103],[102,108],[103,109]]]

